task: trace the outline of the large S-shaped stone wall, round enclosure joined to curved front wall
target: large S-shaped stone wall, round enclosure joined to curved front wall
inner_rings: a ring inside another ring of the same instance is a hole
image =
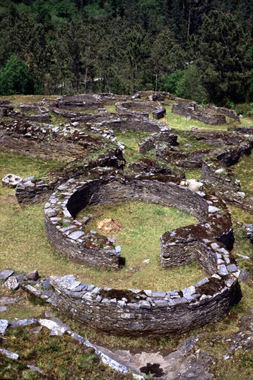
[[[185,265],[192,260],[208,276],[185,289],[118,290],[80,283],[71,275],[51,279],[55,307],[73,319],[108,332],[129,335],[182,333],[223,318],[241,298],[240,271],[226,246],[232,246],[232,222],[225,202],[193,193],[172,182],[108,175],[97,180],[69,180],[45,207],[46,229],[59,253],[80,263],[118,267],[120,247],[95,231],[84,232],[75,220],[86,205],[145,200],[189,211],[200,222],[167,232],[161,238],[161,264]],[[62,218],[71,225],[62,227]],[[218,242],[221,240],[223,243]],[[99,245],[97,247],[96,245]]]

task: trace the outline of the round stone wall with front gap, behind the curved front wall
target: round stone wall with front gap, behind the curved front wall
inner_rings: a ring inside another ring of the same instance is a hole
[[[232,221],[226,205],[214,196],[207,196],[199,191],[194,193],[173,182],[125,178],[109,171],[108,175],[105,172],[95,180],[68,180],[57,190],[45,206],[48,238],[59,254],[68,256],[78,263],[104,267],[120,265],[120,247],[114,250],[108,238],[88,232],[86,227],[74,218],[87,205],[109,204],[122,200],[176,205],[200,219],[198,225],[182,227],[162,236],[161,260],[164,266],[176,265],[173,260],[169,263],[168,257],[174,254],[178,258],[178,251],[182,254],[182,261],[185,260],[184,255],[187,251],[190,255],[188,262],[194,260],[192,255],[196,247],[198,248],[200,238],[216,238],[229,249],[232,249],[234,243]],[[104,262],[104,254],[109,258],[109,263]],[[95,260],[92,255],[101,255],[101,260]]]

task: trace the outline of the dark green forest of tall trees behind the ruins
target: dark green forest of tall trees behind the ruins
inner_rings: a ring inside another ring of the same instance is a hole
[[[251,0],[0,0],[0,95],[253,102]]]

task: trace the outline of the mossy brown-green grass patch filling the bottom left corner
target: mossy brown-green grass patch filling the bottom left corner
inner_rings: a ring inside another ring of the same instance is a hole
[[[133,379],[131,374],[114,372],[104,365],[93,349],[82,347],[71,336],[50,336],[44,328],[39,334],[32,334],[35,327],[9,329],[3,341],[3,348],[20,355],[19,361],[1,357],[1,379],[35,380],[45,377],[28,370],[26,365],[35,365],[46,372],[47,379]],[[7,344],[8,342],[8,344]]]

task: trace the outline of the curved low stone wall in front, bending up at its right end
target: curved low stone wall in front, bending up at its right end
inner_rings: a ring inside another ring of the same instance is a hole
[[[102,289],[72,275],[50,278],[49,298],[51,293],[45,294],[41,285],[23,286],[73,319],[100,330],[137,336],[183,333],[223,318],[241,298],[240,271],[229,251],[211,239],[201,244],[199,263],[210,277],[181,290]]]

